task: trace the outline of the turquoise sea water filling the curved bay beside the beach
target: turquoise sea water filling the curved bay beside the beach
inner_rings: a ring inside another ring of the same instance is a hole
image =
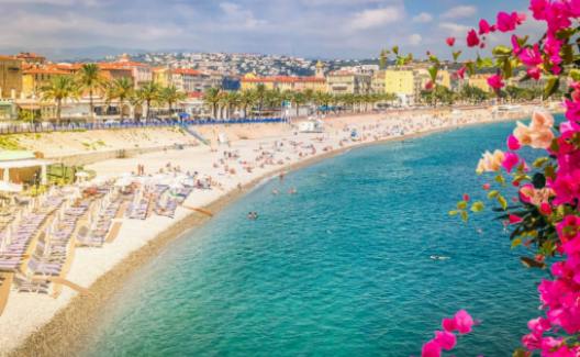
[[[467,309],[481,325],[455,354],[511,355],[543,274],[489,214],[464,225],[447,211],[513,125],[355,149],[258,187],[137,271],[82,354],[410,356]]]

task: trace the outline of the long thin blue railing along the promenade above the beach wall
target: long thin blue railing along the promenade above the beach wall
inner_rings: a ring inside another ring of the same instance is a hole
[[[20,133],[52,133],[52,132],[75,132],[92,130],[123,130],[140,127],[187,127],[197,125],[232,125],[232,124],[267,124],[267,123],[286,123],[285,118],[260,118],[260,119],[230,119],[230,120],[154,120],[146,122],[115,122],[115,123],[22,123],[22,124],[0,124],[0,135],[20,134]]]

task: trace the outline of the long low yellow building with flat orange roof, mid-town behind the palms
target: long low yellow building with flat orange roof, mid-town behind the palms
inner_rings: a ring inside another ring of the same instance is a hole
[[[258,77],[254,74],[245,75],[241,80],[242,90],[254,90],[263,85],[269,90],[280,91],[305,91],[313,90],[317,92],[326,91],[326,80],[319,77],[291,77],[291,76],[271,76]]]

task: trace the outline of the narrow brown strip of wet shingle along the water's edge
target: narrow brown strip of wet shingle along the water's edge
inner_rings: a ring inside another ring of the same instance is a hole
[[[487,125],[490,123],[500,123],[506,121],[514,121],[525,118],[527,113],[522,113],[517,118],[510,119],[489,119],[482,121],[475,121],[464,123],[460,125],[450,125],[443,127],[435,127],[424,132],[406,134],[403,136],[384,137],[377,141],[359,142],[345,147],[333,149],[332,152],[321,153],[313,157],[301,159],[297,163],[283,165],[272,171],[259,175],[253,178],[249,182],[243,185],[242,189],[232,189],[225,192],[220,192],[216,200],[204,204],[203,209],[213,213],[220,212],[222,209],[231,203],[234,203],[248,192],[250,192],[260,182],[269,181],[276,178],[282,171],[294,171],[308,166],[315,165],[320,161],[332,157],[342,155],[350,149],[364,148],[367,146],[381,145],[390,142],[399,142],[413,140],[417,137],[428,136],[436,133],[449,132],[454,130],[465,129],[475,125]],[[126,279],[138,271],[141,267],[150,261],[150,259],[158,255],[160,250],[166,248],[170,243],[182,238],[191,230],[201,226],[210,217],[199,214],[197,212],[188,212],[183,217],[171,222],[161,232],[155,235],[152,239],[146,242],[136,250],[130,253],[122,258],[114,266],[102,274],[89,287],[88,295],[75,295],[70,301],[56,312],[52,319],[41,326],[36,332],[29,335],[22,344],[15,347],[12,352],[8,352],[10,356],[68,356],[78,352],[79,347],[85,345],[90,338],[86,337],[89,327],[96,321],[98,311],[105,305],[111,297],[119,290]],[[66,331],[66,334],[63,332]]]

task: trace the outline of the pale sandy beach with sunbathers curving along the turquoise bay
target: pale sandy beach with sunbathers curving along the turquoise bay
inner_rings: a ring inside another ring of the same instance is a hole
[[[211,189],[193,190],[177,208],[172,219],[159,215],[147,220],[122,217],[118,220],[120,231],[113,242],[99,248],[77,247],[67,280],[88,289],[87,294],[67,287],[57,299],[12,291],[0,316],[0,355],[70,355],[83,344],[96,312],[115,287],[122,286],[135,269],[156,256],[167,243],[211,219],[193,209],[215,214],[266,178],[353,147],[525,118],[531,110],[531,107],[523,107],[521,112],[502,118],[492,118],[489,109],[464,110],[459,114],[430,110],[345,115],[324,119],[324,133],[298,133],[289,124],[207,126],[200,127],[199,132],[211,140],[211,146],[186,146],[90,165],[88,168],[101,179],[118,179],[136,172],[138,165],[144,166],[146,175],[169,169],[198,172],[199,177],[211,182]],[[219,145],[219,134],[225,135],[230,143]],[[171,135],[172,140],[181,140],[179,133]],[[168,145],[170,141],[158,138],[156,144]],[[114,145],[120,144],[115,142]],[[55,155],[63,153],[62,147],[55,150]]]

